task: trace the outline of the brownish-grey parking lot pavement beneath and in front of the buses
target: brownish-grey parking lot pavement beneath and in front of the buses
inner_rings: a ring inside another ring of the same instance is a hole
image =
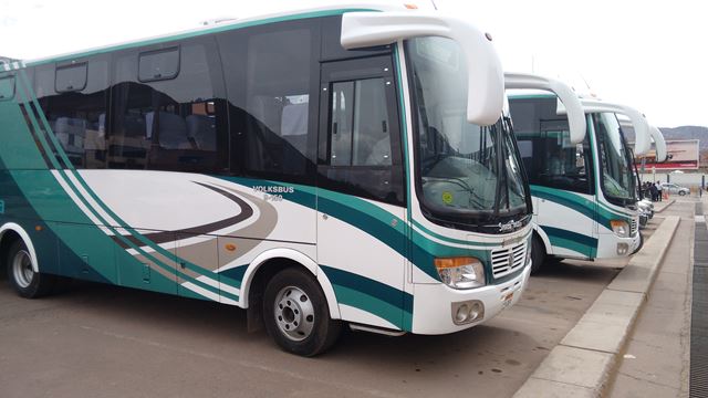
[[[32,301],[2,281],[0,386],[3,397],[510,397],[626,261],[549,264],[486,325],[347,333],[316,358],[248,334],[239,308],[100,284]]]

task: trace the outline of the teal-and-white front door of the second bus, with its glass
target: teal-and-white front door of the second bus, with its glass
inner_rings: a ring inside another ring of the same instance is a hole
[[[534,203],[539,226],[551,240],[553,254],[590,258],[595,247],[596,205],[587,138],[572,144],[566,119],[541,121],[541,180],[550,189]]]

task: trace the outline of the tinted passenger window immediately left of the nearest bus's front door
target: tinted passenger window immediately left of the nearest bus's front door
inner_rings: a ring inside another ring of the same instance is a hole
[[[223,33],[235,172],[312,182],[316,145],[317,20]]]

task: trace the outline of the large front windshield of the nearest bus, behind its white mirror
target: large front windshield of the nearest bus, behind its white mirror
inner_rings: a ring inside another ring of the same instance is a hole
[[[510,123],[467,122],[467,66],[444,38],[406,42],[417,138],[416,186],[427,216],[478,227],[519,221],[528,192]],[[519,226],[520,227],[520,226]]]

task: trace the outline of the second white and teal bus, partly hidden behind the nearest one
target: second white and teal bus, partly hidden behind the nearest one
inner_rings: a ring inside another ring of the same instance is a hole
[[[648,150],[646,119],[626,106],[581,98],[586,126],[569,126],[571,114],[558,100],[542,92],[514,92],[509,98],[531,184],[533,272],[546,256],[617,258],[634,253],[642,243],[634,158],[616,114],[631,118],[637,154]]]

